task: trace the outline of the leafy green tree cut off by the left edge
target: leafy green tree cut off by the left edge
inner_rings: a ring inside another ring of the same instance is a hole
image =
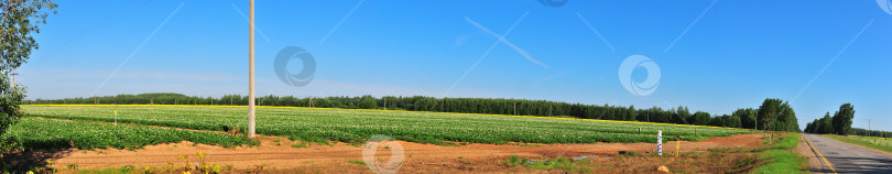
[[[32,34],[40,33],[37,26],[46,24],[48,12],[56,13],[56,7],[50,0],[0,1],[0,135],[22,117],[19,105],[25,88],[10,83],[11,73],[39,47]]]

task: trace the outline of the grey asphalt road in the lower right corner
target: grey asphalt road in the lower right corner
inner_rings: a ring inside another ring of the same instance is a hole
[[[827,159],[836,173],[892,174],[892,156],[890,155],[817,134],[805,134],[805,138]],[[833,173],[827,168],[824,160],[819,160],[823,166],[812,166],[813,171],[824,167],[827,173]]]

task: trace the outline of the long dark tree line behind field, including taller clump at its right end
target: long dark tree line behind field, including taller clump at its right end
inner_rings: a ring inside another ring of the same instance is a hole
[[[122,105],[248,105],[248,97],[226,95],[219,98],[192,97],[181,94],[141,94],[102,97],[78,97],[65,99],[35,99],[26,104],[122,104]],[[635,109],[634,106],[584,105],[546,100],[504,98],[434,98],[424,96],[394,97],[305,97],[263,96],[257,98],[259,106],[317,107],[346,109],[388,109],[411,111],[438,111],[463,113],[491,113],[542,117],[574,117],[583,119],[646,121],[677,124],[715,126],[776,131],[798,131],[796,116],[787,102],[781,99],[765,99],[759,109],[738,109],[731,115],[716,115],[696,111],[687,107],[663,109],[652,107]]]

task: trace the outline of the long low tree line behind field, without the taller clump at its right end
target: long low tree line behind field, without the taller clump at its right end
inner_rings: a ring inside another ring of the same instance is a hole
[[[638,120],[662,123],[688,124],[693,119],[687,107],[664,110],[660,107],[635,109],[634,106],[583,105],[545,100],[503,99],[503,98],[433,98],[424,96],[395,97],[373,96],[360,97],[313,97],[297,98],[292,96],[261,96],[257,98],[259,106],[286,106],[317,108],[347,108],[347,109],[383,109],[387,100],[389,110],[440,111],[463,113],[492,113],[520,116],[568,116],[585,119],[605,120]],[[241,95],[225,95],[219,98],[194,97],[181,94],[157,93],[140,95],[117,95],[101,97],[77,97],[64,99],[35,99],[28,104],[77,104],[77,105],[248,105],[248,97]],[[704,112],[705,113],[705,112]],[[708,113],[707,113],[708,115]],[[684,119],[683,119],[684,118]],[[710,124],[706,121],[703,124]],[[736,127],[737,128],[737,127]]]

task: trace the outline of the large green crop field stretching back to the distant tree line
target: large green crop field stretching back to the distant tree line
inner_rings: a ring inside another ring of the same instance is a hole
[[[32,121],[37,118],[106,123],[115,121],[111,106],[23,106],[23,108],[28,113],[26,119],[12,129],[13,134],[39,131],[21,128],[33,124]],[[120,123],[193,130],[224,131],[232,124],[243,130],[247,128],[247,115],[246,107],[118,107],[118,122]],[[696,141],[709,137],[749,132],[724,128],[602,120],[380,110],[258,108],[257,116],[259,134],[285,135],[305,141],[331,140],[353,143],[362,142],[374,134],[385,134],[411,142],[442,144],[444,142],[654,142],[657,130],[663,131],[664,141],[675,140],[675,135],[682,135],[683,140]],[[46,131],[65,132],[65,129],[70,129],[68,126],[47,124],[54,129]],[[642,133],[638,132],[639,127],[642,128]],[[697,130],[696,135],[695,129]],[[98,137],[131,139],[120,135],[121,133],[127,132],[104,132]],[[98,133],[70,132],[64,135],[97,137],[96,134]],[[79,142],[76,141],[75,144]]]

